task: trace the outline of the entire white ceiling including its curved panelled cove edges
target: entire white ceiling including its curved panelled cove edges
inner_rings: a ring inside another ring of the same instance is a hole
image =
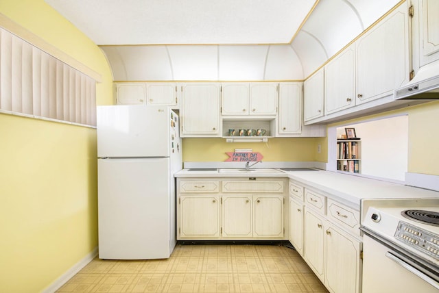
[[[45,1],[102,48],[116,81],[306,79],[400,3]]]

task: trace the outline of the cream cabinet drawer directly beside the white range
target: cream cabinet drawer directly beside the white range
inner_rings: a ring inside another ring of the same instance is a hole
[[[359,211],[328,199],[328,217],[329,220],[352,231],[355,235],[360,235]]]

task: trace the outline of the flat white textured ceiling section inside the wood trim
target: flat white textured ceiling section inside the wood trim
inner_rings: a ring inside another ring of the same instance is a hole
[[[96,44],[289,43],[316,0],[45,0]]]

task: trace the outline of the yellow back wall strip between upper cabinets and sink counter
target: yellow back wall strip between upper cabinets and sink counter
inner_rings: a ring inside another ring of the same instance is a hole
[[[267,143],[227,143],[224,138],[185,138],[183,161],[222,162],[228,158],[226,152],[233,152],[235,149],[259,152],[265,162],[316,161],[320,159],[317,156],[318,141],[318,138],[269,138]]]

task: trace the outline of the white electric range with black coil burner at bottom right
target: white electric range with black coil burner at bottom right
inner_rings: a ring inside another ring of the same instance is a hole
[[[438,199],[361,202],[363,293],[439,292]]]

